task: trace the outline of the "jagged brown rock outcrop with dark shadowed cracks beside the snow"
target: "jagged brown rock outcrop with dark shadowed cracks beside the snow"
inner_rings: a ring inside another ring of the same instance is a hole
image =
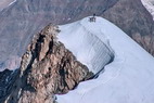
[[[0,83],[5,82],[0,85],[0,92],[5,92],[0,103],[52,103],[55,93],[66,93],[93,76],[56,40],[59,31],[48,25],[28,46],[21,68],[0,74]]]

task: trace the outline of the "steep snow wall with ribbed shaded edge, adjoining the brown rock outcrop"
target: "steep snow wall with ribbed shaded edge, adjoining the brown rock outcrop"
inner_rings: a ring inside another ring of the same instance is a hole
[[[60,26],[61,33],[57,37],[78,61],[97,74],[114,59],[114,51],[110,48],[106,37],[98,37],[99,34],[103,34],[101,30],[97,27],[93,30],[89,29],[85,24],[82,21]]]

